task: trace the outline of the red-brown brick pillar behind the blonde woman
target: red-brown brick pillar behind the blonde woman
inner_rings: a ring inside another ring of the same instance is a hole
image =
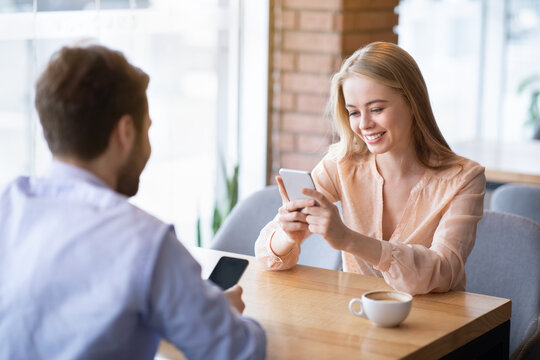
[[[332,74],[372,41],[397,43],[399,0],[274,0],[268,183],[279,168],[311,170],[335,141],[325,117]]]

